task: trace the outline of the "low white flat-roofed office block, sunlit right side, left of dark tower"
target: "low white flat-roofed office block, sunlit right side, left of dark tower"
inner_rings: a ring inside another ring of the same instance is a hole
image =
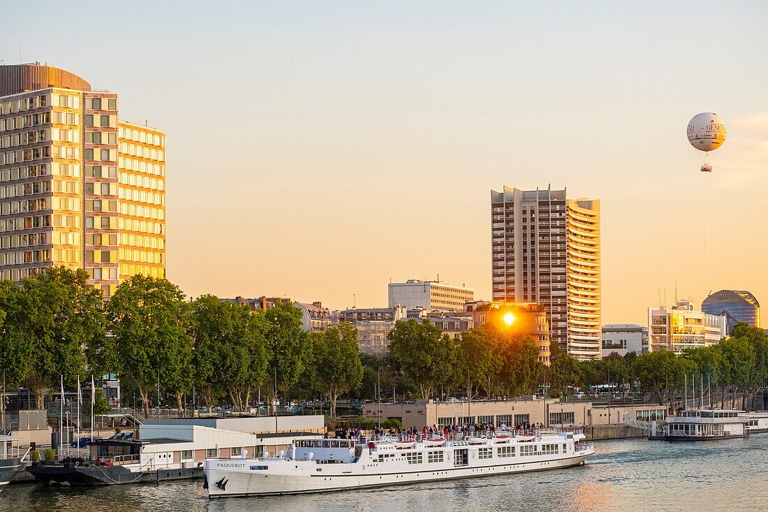
[[[464,311],[464,304],[474,298],[475,292],[471,288],[442,281],[409,279],[405,283],[389,283],[389,308],[400,304],[409,310]]]

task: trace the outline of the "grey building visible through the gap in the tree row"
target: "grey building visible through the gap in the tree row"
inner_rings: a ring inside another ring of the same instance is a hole
[[[353,308],[336,314],[335,324],[349,322],[357,329],[357,343],[362,354],[384,356],[389,351],[387,335],[395,322],[406,319],[406,307]]]

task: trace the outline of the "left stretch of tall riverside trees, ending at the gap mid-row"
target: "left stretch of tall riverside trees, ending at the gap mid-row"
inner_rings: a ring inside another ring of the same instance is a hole
[[[0,282],[0,370],[9,384],[28,387],[43,408],[78,377],[118,374],[124,394],[135,391],[149,414],[158,381],[179,410],[197,389],[203,404],[237,411],[259,390],[336,397],[362,378],[357,333],[349,324],[303,331],[301,311],[282,304],[251,312],[212,295],[187,300],[166,279],[137,275],[104,301],[82,270],[55,267],[19,286]],[[333,414],[333,413],[332,413]]]

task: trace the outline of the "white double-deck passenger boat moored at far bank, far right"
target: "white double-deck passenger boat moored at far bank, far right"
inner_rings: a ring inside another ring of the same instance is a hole
[[[717,441],[750,435],[744,411],[691,409],[668,416],[664,441]]]

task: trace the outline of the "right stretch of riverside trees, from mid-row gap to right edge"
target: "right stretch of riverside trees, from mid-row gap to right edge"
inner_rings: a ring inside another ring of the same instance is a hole
[[[435,324],[401,321],[389,334],[390,355],[373,367],[384,369],[386,386],[411,387],[421,397],[460,391],[466,397],[515,396],[548,384],[552,396],[565,396],[577,388],[615,384],[640,389],[670,403],[683,392],[686,375],[706,376],[707,383],[731,406],[737,395],[746,407],[768,383],[768,336],[762,329],[738,324],[733,336],[711,347],[691,348],[676,355],[654,351],[621,357],[610,354],[600,360],[578,361],[551,346],[551,365],[538,361],[538,349],[530,337],[512,334],[504,327],[485,324],[453,339]],[[371,365],[371,363],[368,363]],[[366,374],[369,373],[366,368]],[[698,377],[697,377],[698,378]],[[689,386],[691,386],[689,384]]]

